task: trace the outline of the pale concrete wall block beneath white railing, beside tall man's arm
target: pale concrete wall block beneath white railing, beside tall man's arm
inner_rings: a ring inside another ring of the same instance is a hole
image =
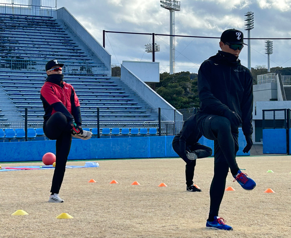
[[[263,83],[253,85],[254,104],[256,101],[270,101],[277,99],[277,83]]]

